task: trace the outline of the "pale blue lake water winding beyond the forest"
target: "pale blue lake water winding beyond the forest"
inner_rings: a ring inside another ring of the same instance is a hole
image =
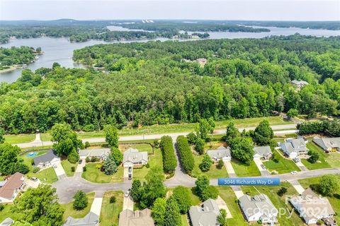
[[[254,27],[261,28],[261,27]],[[314,29],[302,29],[302,28],[273,28],[268,27],[271,32],[209,32],[210,39],[222,39],[222,38],[261,38],[271,35],[293,35],[300,33],[301,35],[313,35],[317,37],[329,37],[340,35],[340,30],[314,30]],[[111,30],[125,30],[118,26],[110,26]],[[128,30],[128,29],[127,29]],[[191,32],[188,32],[189,34]],[[159,38],[157,40],[165,41],[166,38]],[[14,39],[6,44],[0,44],[0,47],[20,47],[23,45],[29,47],[41,47],[44,54],[40,55],[40,59],[36,60],[32,64],[28,64],[28,69],[35,71],[41,67],[52,67],[54,62],[58,62],[61,66],[68,68],[81,68],[83,65],[74,63],[72,60],[72,54],[74,49],[81,49],[86,46],[94,44],[108,44],[108,43],[128,43],[128,42],[147,42],[149,40],[128,40],[128,41],[113,41],[105,42],[102,40],[89,40],[87,42],[69,42],[67,38],[52,38],[52,37],[40,37],[29,39]],[[13,83],[21,75],[23,69],[15,69],[6,73],[0,73],[0,82]]]

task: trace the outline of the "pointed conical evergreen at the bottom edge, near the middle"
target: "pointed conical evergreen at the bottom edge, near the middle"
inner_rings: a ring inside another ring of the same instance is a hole
[[[166,200],[166,208],[164,214],[164,226],[178,226],[181,225],[181,213],[179,213],[179,206],[176,200],[171,196]]]

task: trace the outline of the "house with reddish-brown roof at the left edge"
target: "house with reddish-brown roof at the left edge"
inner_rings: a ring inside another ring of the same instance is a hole
[[[0,188],[0,203],[11,203],[25,186],[25,177],[16,172],[9,177],[4,186]]]

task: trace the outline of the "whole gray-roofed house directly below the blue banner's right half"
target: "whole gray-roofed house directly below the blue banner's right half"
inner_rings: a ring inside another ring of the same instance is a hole
[[[265,194],[258,196],[244,195],[239,198],[239,206],[248,222],[275,223],[278,210],[275,208],[271,200]]]

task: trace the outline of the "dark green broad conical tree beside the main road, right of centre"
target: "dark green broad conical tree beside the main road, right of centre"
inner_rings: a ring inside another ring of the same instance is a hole
[[[273,129],[267,120],[260,122],[259,126],[254,130],[254,141],[258,145],[268,145],[274,137]]]

